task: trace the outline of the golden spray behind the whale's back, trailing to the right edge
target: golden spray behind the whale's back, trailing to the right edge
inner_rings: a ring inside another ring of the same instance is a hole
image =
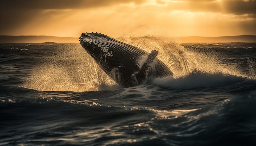
[[[159,51],[157,58],[168,66],[173,72],[174,78],[187,76],[195,70],[201,73],[223,73],[225,75],[252,78],[252,75],[241,73],[235,65],[227,66],[227,64],[220,63],[220,54],[198,52],[185,48],[175,38],[147,36],[141,38],[119,38],[119,40],[137,46],[147,52],[151,50]],[[252,60],[248,62],[253,64]],[[251,68],[253,70],[253,67]],[[250,72],[255,73],[255,71]]]

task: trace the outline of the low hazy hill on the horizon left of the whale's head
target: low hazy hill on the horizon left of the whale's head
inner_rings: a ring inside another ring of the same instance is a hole
[[[0,42],[4,43],[43,43],[43,42],[79,42],[79,38],[72,37],[56,37],[56,36],[45,36],[45,35],[0,35]]]

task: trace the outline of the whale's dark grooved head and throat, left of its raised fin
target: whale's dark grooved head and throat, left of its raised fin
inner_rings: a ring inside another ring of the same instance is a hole
[[[136,62],[141,55],[146,55],[135,46],[125,44],[101,33],[83,33],[80,44],[108,75],[118,70],[131,76],[139,70]]]

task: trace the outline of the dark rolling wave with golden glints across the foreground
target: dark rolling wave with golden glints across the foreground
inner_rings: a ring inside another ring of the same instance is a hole
[[[254,143],[255,91],[191,110],[109,106],[97,100],[82,101],[85,93],[54,92],[50,97],[51,93],[46,93],[49,97],[2,100],[0,128],[5,135],[13,135],[14,143],[3,135],[0,137],[5,140],[1,138],[1,142],[177,146]]]

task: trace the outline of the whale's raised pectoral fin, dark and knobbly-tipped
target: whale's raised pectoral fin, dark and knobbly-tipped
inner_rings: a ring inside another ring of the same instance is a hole
[[[157,54],[158,51],[151,51],[151,53],[148,54],[148,59],[141,66],[140,71],[137,74],[135,74],[138,84],[141,84],[144,80],[146,80],[147,71],[150,68],[150,65],[152,64],[153,60],[156,58]]]

